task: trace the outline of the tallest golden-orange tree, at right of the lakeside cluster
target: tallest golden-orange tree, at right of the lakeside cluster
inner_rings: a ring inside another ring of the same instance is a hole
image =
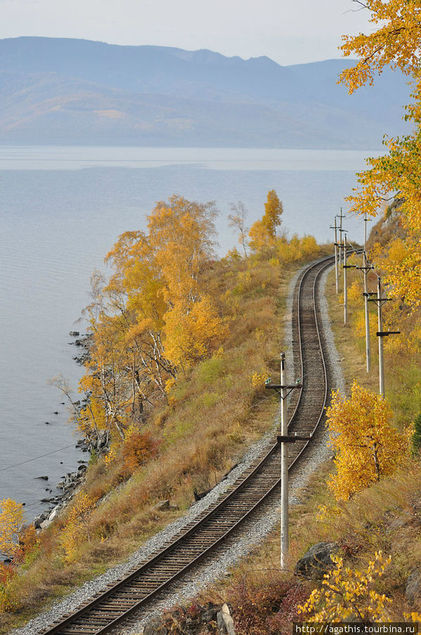
[[[165,280],[165,351],[176,367],[205,358],[225,336],[212,298],[200,287],[200,274],[213,256],[214,218],[213,204],[180,196],[158,203],[148,217],[155,260]]]

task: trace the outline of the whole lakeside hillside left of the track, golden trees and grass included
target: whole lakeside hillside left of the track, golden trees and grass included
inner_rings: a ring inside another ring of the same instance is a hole
[[[283,337],[273,325],[296,268],[326,250],[279,231],[275,191],[264,209],[249,229],[237,205],[242,255],[216,260],[213,205],[175,195],[158,202],[147,231],[118,238],[111,277],[92,278],[80,394],[55,380],[89,468],[42,531],[23,524],[21,505],[0,502],[0,548],[13,557],[0,566],[1,632],[127,557],[272,428],[277,399],[263,381]]]

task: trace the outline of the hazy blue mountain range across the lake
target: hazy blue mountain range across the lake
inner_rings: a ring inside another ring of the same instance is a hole
[[[402,133],[406,78],[387,71],[350,96],[336,83],[346,66],[0,40],[0,144],[367,149]]]

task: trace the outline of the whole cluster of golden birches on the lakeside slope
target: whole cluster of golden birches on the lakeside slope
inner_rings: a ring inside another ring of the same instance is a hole
[[[111,437],[124,442],[130,426],[144,423],[156,394],[167,399],[178,370],[225,337],[218,308],[201,286],[213,258],[215,214],[213,203],[179,195],[158,202],[147,231],[125,232],[106,256],[110,279],[92,277],[84,400],[75,418],[96,447]]]

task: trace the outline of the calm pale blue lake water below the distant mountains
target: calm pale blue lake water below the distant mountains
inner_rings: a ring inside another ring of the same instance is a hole
[[[77,436],[49,378],[77,386],[81,369],[68,332],[89,303],[89,277],[122,231],[142,229],[157,200],[178,193],[214,200],[218,253],[237,243],[232,202],[263,215],[268,190],[284,203],[289,234],[332,241],[329,229],[356,171],[377,152],[229,148],[0,147],[0,499],[33,517],[78,459]],[[362,222],[346,220],[351,241]],[[56,414],[58,412],[58,414]],[[49,422],[46,425],[46,422]],[[46,456],[42,456],[46,455]],[[36,458],[41,457],[41,458]],[[49,476],[49,481],[37,476]]]

